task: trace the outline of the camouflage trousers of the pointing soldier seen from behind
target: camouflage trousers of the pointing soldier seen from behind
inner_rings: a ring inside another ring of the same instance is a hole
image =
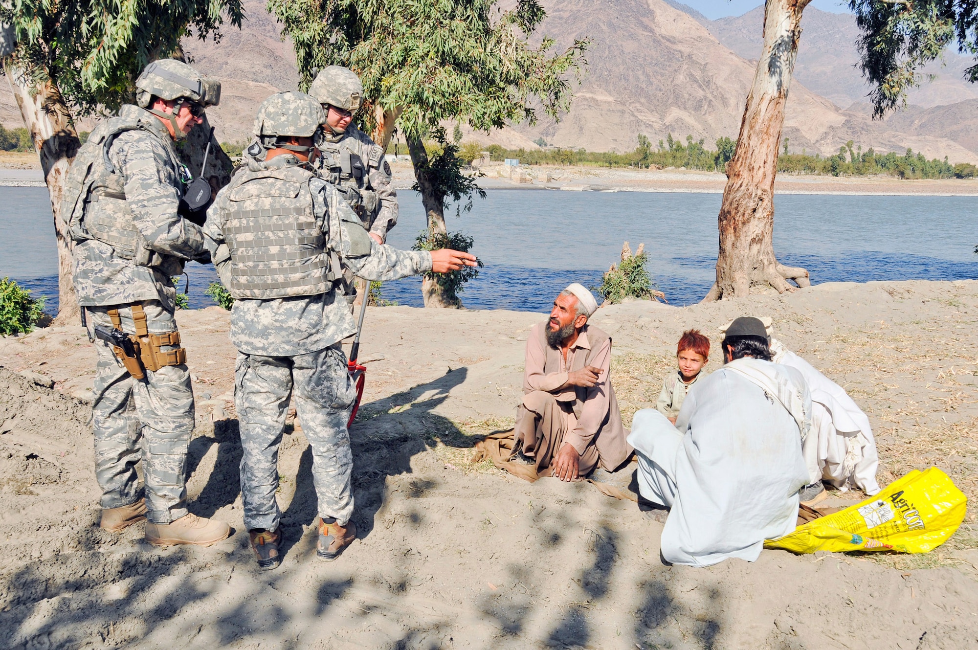
[[[238,353],[235,408],[241,430],[242,501],[248,530],[279,527],[275,500],[279,487],[279,445],[286,428],[289,397],[302,433],[312,447],[312,478],[319,514],[345,526],[353,515],[350,473],[353,452],[346,421],[356,387],[339,345],[294,356]]]

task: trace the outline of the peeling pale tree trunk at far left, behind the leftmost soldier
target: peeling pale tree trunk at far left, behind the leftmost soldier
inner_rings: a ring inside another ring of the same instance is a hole
[[[51,198],[58,248],[58,317],[55,324],[73,324],[78,317],[78,299],[72,279],[73,244],[67,233],[67,223],[62,219],[61,202],[67,170],[81,142],[71,124],[65,98],[57,85],[47,81],[28,87],[22,71],[16,69],[9,59],[4,62],[4,73],[14,91],[18,108],[21,109],[23,124],[34,142]]]

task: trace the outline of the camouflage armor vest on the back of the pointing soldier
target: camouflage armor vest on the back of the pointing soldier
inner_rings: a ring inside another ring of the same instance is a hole
[[[227,189],[222,228],[236,299],[315,296],[333,289],[326,235],[314,213],[312,171],[241,168]]]

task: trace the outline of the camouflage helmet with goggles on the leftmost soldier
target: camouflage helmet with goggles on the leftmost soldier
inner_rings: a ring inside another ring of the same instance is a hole
[[[154,97],[162,100],[178,100],[173,113],[163,113],[150,108]],[[217,106],[221,101],[221,82],[203,76],[187,64],[176,59],[160,59],[143,70],[136,79],[136,103],[157,117],[170,122],[173,137],[186,137],[177,126],[177,114],[184,102],[194,102],[203,108]]]

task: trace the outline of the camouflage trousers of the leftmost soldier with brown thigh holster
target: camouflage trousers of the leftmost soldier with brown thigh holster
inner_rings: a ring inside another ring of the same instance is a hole
[[[111,329],[110,308],[88,307],[90,321]],[[143,302],[143,309],[151,333],[176,331],[173,313],[159,302]],[[118,310],[123,331],[135,334],[132,311],[123,306]],[[139,498],[136,464],[142,460],[147,517],[156,524],[169,524],[187,514],[184,473],[195,415],[190,371],[186,365],[163,366],[156,372],[147,370],[145,380],[136,380],[109,344],[96,340],[95,347],[99,362],[92,422],[102,507],[117,508]]]

